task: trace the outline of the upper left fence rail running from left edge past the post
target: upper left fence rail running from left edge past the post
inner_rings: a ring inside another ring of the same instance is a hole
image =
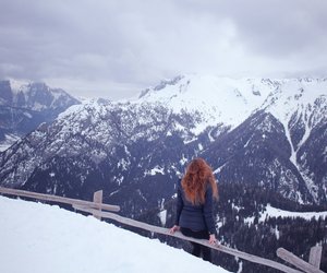
[[[38,193],[38,192],[33,192],[33,191],[16,190],[16,189],[0,187],[0,192],[2,192],[4,194],[9,194],[9,195],[34,198],[34,199],[38,199],[38,200],[59,202],[59,203],[71,204],[71,205],[76,204],[76,205],[88,206],[88,207],[94,207],[94,209],[98,209],[98,210],[111,211],[111,212],[120,211],[119,205],[110,205],[110,204],[102,204],[102,203],[97,204],[97,203],[85,201],[85,200],[63,198],[63,197],[44,194],[44,193]]]

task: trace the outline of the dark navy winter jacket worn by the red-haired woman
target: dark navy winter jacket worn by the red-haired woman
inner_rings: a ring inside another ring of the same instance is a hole
[[[208,230],[209,234],[216,234],[213,206],[214,200],[210,183],[207,183],[205,203],[192,204],[192,202],[186,200],[181,180],[179,180],[175,225],[190,228],[193,232]]]

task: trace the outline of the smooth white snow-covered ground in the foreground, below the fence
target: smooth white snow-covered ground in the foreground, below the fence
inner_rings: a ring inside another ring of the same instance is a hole
[[[0,272],[228,271],[93,216],[0,197]]]

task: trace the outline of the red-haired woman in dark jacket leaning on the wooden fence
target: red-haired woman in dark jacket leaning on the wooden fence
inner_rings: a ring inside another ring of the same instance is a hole
[[[181,230],[185,236],[216,244],[214,199],[218,199],[218,189],[211,168],[203,158],[193,159],[178,183],[177,218],[170,233]],[[192,254],[211,261],[209,248],[191,244]]]

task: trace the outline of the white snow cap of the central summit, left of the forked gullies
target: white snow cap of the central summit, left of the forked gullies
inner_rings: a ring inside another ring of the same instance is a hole
[[[177,114],[202,112],[207,117],[206,126],[223,122],[235,127],[277,87],[270,80],[187,74],[145,90],[134,103],[160,102]]]

